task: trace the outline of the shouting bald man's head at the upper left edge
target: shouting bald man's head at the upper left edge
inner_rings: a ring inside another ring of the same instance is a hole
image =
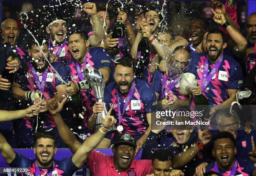
[[[5,42],[15,46],[19,35],[18,24],[15,20],[8,18],[1,23],[2,37]]]

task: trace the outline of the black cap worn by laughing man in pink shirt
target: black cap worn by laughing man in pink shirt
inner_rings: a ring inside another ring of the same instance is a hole
[[[121,144],[131,145],[134,149],[137,147],[135,137],[129,133],[122,133],[116,136],[114,147]]]

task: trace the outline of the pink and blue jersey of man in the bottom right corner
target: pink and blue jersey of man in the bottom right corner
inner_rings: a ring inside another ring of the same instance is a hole
[[[254,166],[253,162],[251,160],[246,160],[246,159],[237,159],[238,160],[238,167],[236,169],[236,174],[235,176],[253,176],[253,171],[254,171]],[[215,162],[210,163],[208,166],[205,168],[205,172],[208,171],[214,171],[214,165]],[[229,171],[222,171],[219,168],[219,174],[221,176],[229,176],[230,175],[230,170]]]

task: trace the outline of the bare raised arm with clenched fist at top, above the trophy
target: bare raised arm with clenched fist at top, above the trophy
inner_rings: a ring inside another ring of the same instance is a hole
[[[105,32],[100,22],[100,18],[97,15],[96,4],[93,2],[87,2],[83,4],[84,12],[88,13],[92,19],[93,34],[90,35],[90,44],[98,45],[105,39]]]

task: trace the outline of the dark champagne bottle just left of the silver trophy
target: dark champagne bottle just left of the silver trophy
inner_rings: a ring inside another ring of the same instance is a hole
[[[67,87],[70,87],[71,84],[67,85]],[[72,109],[73,114],[76,115],[76,119],[74,121],[74,125],[78,126],[78,128],[82,128],[82,119],[84,119],[84,116],[82,115],[83,108],[82,108],[82,101],[80,97],[77,94],[71,95],[68,98],[68,107]],[[80,117],[80,118],[79,118]]]

